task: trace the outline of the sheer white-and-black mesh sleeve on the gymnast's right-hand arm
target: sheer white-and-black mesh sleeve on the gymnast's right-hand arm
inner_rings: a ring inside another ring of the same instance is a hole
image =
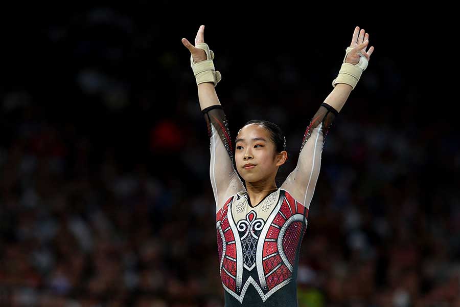
[[[297,166],[281,186],[307,209],[318,179],[326,135],[337,115],[337,110],[329,104],[323,102],[319,106],[305,130]]]

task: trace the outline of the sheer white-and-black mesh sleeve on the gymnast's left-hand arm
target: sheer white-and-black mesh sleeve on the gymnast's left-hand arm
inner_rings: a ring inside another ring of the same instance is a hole
[[[225,201],[245,189],[233,165],[233,146],[228,121],[220,104],[202,109],[210,137],[210,177],[216,201],[216,212]]]

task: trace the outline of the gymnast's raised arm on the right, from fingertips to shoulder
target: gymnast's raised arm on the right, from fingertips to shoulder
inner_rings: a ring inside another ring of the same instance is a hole
[[[362,71],[367,67],[374,50],[374,47],[371,47],[368,52],[365,51],[369,43],[368,38],[369,34],[364,30],[359,31],[359,27],[355,28],[342,68],[333,81],[334,90],[311,119],[305,130],[297,165],[281,186],[306,208],[310,207],[313,198],[321,166],[321,154],[329,128],[356,86]]]

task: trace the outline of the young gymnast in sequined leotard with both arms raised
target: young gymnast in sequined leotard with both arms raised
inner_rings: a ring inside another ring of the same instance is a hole
[[[214,52],[204,43],[204,26],[191,52],[201,112],[210,136],[210,176],[216,201],[219,271],[225,306],[297,306],[297,265],[308,208],[321,165],[328,129],[356,86],[374,51],[369,34],[355,28],[334,90],[308,125],[295,169],[278,188],[275,176],[287,159],[281,129],[252,120],[238,132],[235,154],[228,121],[215,86]],[[236,169],[234,168],[234,162]],[[240,180],[244,179],[246,186]]]

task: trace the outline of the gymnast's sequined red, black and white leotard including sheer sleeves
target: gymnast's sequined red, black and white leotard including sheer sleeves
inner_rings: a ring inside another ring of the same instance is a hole
[[[202,110],[210,136],[219,273],[225,307],[297,306],[297,265],[321,152],[337,111],[323,103],[310,121],[295,169],[276,191],[250,204],[234,167],[221,105]]]

